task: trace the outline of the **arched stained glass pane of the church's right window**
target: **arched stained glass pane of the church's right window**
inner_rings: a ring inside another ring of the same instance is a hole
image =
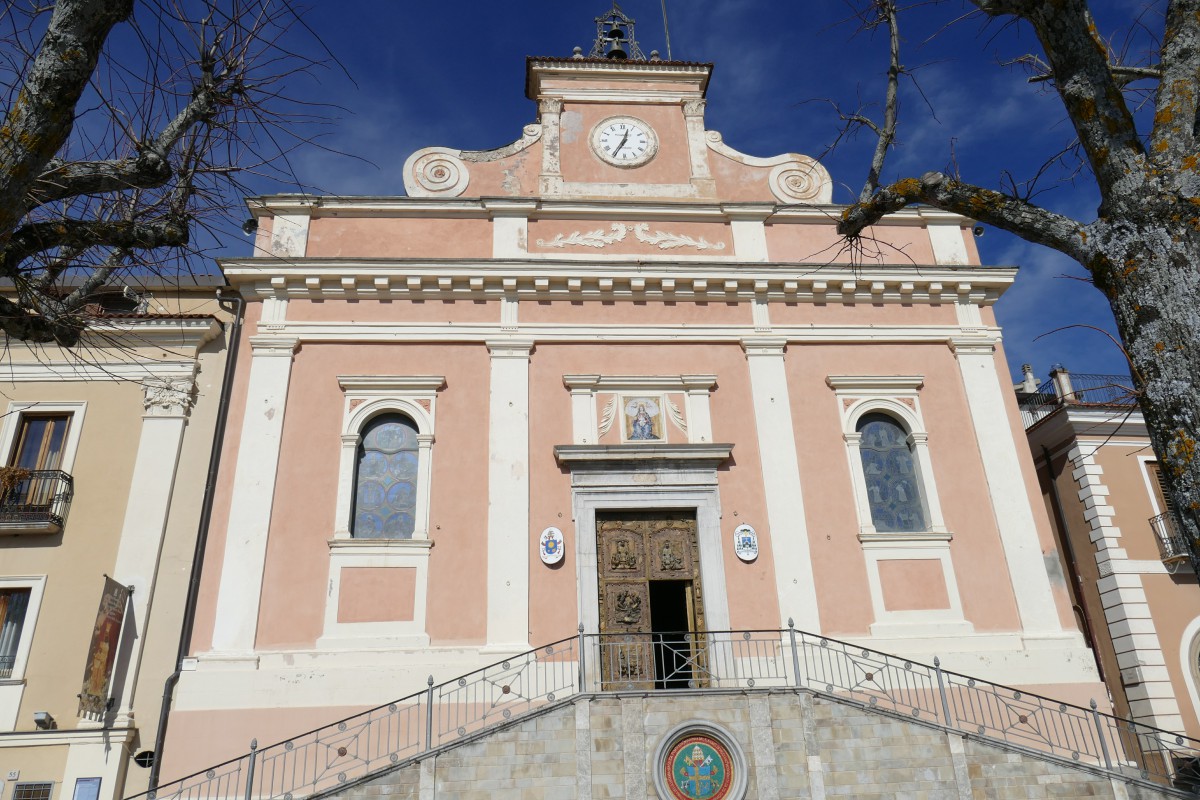
[[[925,530],[920,479],[908,449],[908,434],[886,414],[868,414],[858,421],[859,452],[871,522],[878,531]]]

